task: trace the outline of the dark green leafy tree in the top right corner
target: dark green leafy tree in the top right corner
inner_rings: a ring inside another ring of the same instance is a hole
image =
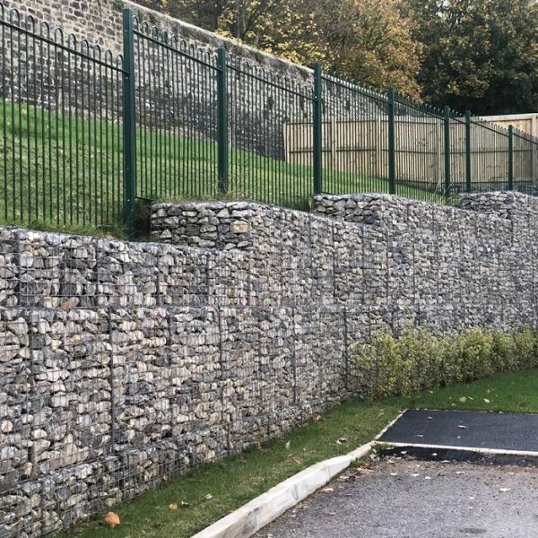
[[[402,13],[423,46],[426,100],[480,114],[538,108],[535,0],[404,0]]]

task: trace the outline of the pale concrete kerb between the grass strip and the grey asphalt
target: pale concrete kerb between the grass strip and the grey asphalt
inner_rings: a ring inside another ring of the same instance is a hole
[[[284,482],[277,484],[271,490],[252,499],[246,505],[224,516],[219,521],[195,534],[193,538],[248,538],[281,516],[286,510],[299,504],[312,493],[319,490],[340,473],[343,473],[353,461],[368,456],[377,446],[380,438],[397,421],[401,412],[394,421],[386,425],[366,445],[362,445],[349,454],[336,456],[318,464],[311,465],[300,473],[294,474]]]

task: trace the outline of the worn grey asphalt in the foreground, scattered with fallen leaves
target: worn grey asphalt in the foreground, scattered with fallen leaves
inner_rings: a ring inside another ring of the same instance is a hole
[[[404,456],[406,457],[406,456]],[[256,538],[538,538],[538,468],[382,458]]]

